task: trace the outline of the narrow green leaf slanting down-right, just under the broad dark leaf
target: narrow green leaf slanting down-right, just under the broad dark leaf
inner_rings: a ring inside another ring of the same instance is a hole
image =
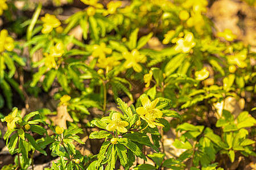
[[[141,149],[134,142],[130,141],[127,138],[117,138],[117,141],[122,145],[125,145],[131,151],[133,151],[134,154],[137,155],[139,158],[147,160],[146,156],[142,153]]]

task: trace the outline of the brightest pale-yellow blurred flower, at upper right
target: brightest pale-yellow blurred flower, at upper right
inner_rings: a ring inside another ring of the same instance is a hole
[[[177,52],[189,53],[191,48],[196,45],[196,42],[193,41],[194,36],[192,32],[188,32],[184,39],[177,39],[176,46],[174,47]]]

